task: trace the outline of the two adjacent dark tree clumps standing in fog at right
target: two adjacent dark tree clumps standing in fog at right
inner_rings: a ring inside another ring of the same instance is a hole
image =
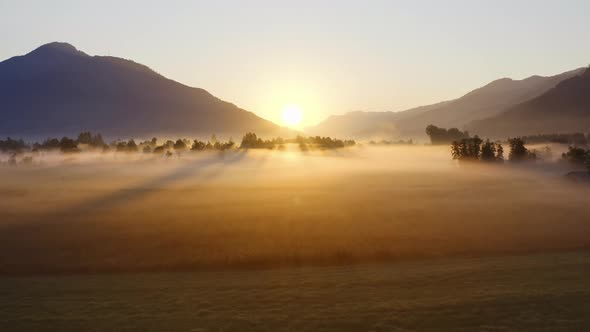
[[[532,161],[537,159],[537,152],[526,148],[526,142],[520,138],[508,139],[510,153],[508,160],[511,162]],[[463,138],[451,144],[453,159],[460,161],[484,161],[503,162],[504,147],[500,142],[485,141],[477,135],[470,138]]]

